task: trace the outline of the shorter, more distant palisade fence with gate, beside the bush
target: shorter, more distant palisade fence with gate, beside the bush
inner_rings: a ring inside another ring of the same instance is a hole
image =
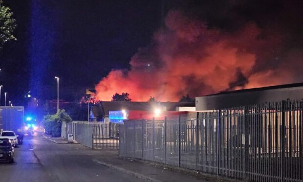
[[[118,149],[119,124],[103,122],[73,121],[66,124],[66,136],[93,149]]]

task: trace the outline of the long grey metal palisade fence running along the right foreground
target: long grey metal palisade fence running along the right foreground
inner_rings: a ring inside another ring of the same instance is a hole
[[[120,126],[119,155],[246,181],[303,181],[302,101]]]

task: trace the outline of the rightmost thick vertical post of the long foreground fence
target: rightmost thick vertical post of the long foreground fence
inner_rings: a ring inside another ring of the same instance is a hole
[[[282,111],[281,111],[281,182],[284,181],[284,170],[285,167],[285,119],[286,119],[286,101],[282,101]]]

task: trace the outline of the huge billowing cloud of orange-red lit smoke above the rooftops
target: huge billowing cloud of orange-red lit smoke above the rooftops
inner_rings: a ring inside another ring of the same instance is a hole
[[[131,58],[130,70],[112,70],[97,84],[98,99],[128,92],[132,101],[150,96],[178,101],[187,93],[195,97],[300,81],[301,51],[282,54],[283,36],[255,23],[222,32],[170,11],[165,24]]]

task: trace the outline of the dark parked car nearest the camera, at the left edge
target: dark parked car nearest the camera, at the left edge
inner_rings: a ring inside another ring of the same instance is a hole
[[[14,162],[14,147],[8,138],[0,138],[0,161]]]

